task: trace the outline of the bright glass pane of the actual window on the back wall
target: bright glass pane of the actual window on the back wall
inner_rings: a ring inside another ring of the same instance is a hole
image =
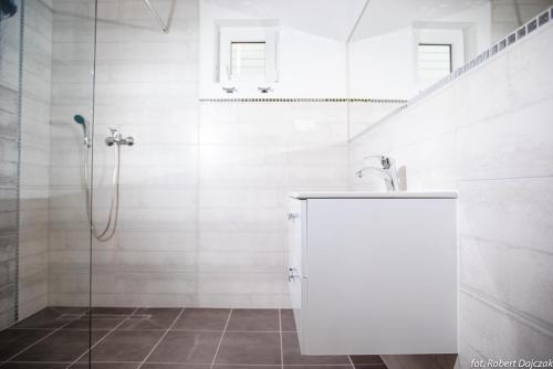
[[[231,42],[231,78],[265,75],[265,42]]]

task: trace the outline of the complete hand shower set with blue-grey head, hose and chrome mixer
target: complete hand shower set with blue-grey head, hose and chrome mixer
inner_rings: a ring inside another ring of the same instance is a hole
[[[73,120],[83,127],[83,187],[86,197],[86,213],[88,214],[88,221],[91,222],[92,234],[98,241],[106,242],[109,241],[117,229],[117,218],[119,211],[119,173],[121,173],[121,146],[133,146],[134,138],[132,136],[123,137],[118,129],[109,128],[109,136],[104,140],[107,147],[114,148],[114,166],[112,172],[112,190],[109,200],[109,212],[107,215],[107,222],[105,226],[97,226],[94,223],[91,209],[91,178],[88,171],[88,154],[92,146],[90,138],[88,122],[82,115],[75,115]]]

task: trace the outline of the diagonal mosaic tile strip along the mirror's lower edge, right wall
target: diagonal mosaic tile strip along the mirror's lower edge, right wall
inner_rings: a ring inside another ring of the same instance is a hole
[[[542,13],[538,14],[535,18],[531,19],[528,21],[525,24],[523,24],[521,28],[517,29],[515,31],[511,32],[508,34],[505,38],[499,40],[494,45],[492,45],[490,49],[465,64],[463,66],[457,68],[453,71],[451,74],[448,76],[441,78],[440,81],[436,82],[434,85],[428,87],[427,89],[422,91],[420,94],[415,96],[414,98],[409,99],[407,104],[404,106],[399,107],[397,110],[405,109],[409,107],[410,105],[424,99],[435,91],[444,87],[448,83],[452,82],[453,80],[457,80],[465,73],[469,72],[470,70],[474,68],[476,66],[482,64],[483,62],[488,61],[489,59],[495,56],[497,54],[501,53],[512,44],[517,43],[518,41],[522,40],[525,38],[528,34],[532,33],[535,31],[538,28],[543,27],[553,20],[553,7],[549,8],[547,10],[543,11]],[[392,113],[394,114],[394,113]]]

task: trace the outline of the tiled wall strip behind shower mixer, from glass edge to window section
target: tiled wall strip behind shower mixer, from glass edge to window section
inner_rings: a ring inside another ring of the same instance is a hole
[[[167,17],[170,1],[156,2]],[[161,32],[143,1],[98,3],[94,218],[104,224],[116,127],[122,148],[118,230],[93,242],[95,306],[191,306],[197,291],[197,1],[178,1]]]

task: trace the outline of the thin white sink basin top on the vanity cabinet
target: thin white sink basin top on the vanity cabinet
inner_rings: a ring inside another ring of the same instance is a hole
[[[305,191],[290,192],[289,197],[305,199],[456,199],[455,191],[398,191],[398,192],[364,192],[364,191]]]

